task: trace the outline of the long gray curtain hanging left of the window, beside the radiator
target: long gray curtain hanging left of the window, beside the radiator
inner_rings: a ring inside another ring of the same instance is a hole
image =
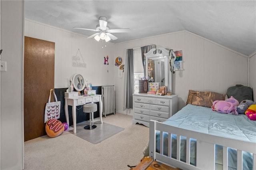
[[[124,65],[124,109],[132,109],[132,94],[134,93],[133,49],[126,50]]]

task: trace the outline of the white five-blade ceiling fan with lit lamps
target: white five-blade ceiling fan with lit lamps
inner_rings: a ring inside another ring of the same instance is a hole
[[[117,37],[110,34],[110,33],[119,33],[119,32],[130,32],[130,28],[123,28],[123,29],[109,29],[109,27],[107,26],[108,22],[106,22],[107,18],[105,16],[100,16],[99,17],[99,22],[100,24],[98,24],[96,26],[96,30],[93,29],[88,29],[88,28],[77,28],[77,27],[73,27],[75,29],[80,29],[80,30],[89,30],[89,31],[95,31],[98,32],[96,34],[93,34],[87,38],[93,38],[96,41],[100,41],[101,40],[105,40],[106,42],[110,41],[110,40],[116,40]]]

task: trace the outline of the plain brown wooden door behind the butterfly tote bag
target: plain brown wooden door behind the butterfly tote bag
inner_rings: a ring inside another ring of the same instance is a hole
[[[46,134],[44,109],[54,89],[54,54],[55,43],[25,36],[24,141]]]

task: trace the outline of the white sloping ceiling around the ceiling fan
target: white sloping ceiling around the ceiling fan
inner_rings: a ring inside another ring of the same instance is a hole
[[[90,36],[106,16],[112,43],[188,30],[245,55],[256,51],[256,0],[26,0],[25,18]]]

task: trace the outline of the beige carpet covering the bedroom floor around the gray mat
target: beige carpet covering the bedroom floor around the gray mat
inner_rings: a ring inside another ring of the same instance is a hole
[[[68,130],[56,138],[46,135],[28,140],[24,144],[24,169],[129,170],[128,164],[139,164],[149,128],[132,125],[132,116],[118,113],[103,117],[103,122],[125,129],[98,144]]]

